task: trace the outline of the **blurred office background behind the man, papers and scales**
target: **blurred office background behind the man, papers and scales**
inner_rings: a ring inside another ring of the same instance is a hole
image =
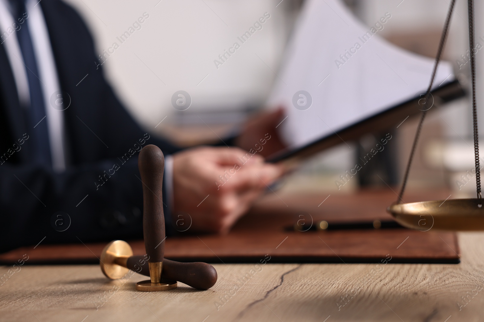
[[[138,17],[144,13],[149,15],[140,24],[141,28],[114,53],[105,55],[103,67],[115,91],[138,122],[151,133],[168,136],[182,145],[223,137],[236,130],[249,114],[263,107],[303,4],[302,0],[68,2],[88,22],[100,55],[113,42],[120,44],[117,37],[132,27]],[[450,0],[345,2],[368,26],[390,12],[392,19],[379,35],[402,48],[433,57]],[[477,1],[475,6],[475,39],[484,45],[484,26],[479,19],[484,14],[484,5]],[[214,59],[264,13],[269,13],[270,18],[263,28],[217,68]],[[455,73],[464,86],[469,86],[469,63],[459,69],[457,60],[462,61],[461,55],[467,55],[467,20],[467,1],[458,0],[444,59],[453,62]],[[329,34],[337,30],[315,32]],[[476,56],[478,75],[484,74],[483,55],[479,51]],[[478,105],[481,106],[481,124],[484,124],[483,100],[479,97],[482,80],[483,77],[478,76]],[[183,112],[171,104],[173,93],[179,90],[188,92],[192,98],[192,105]],[[394,143],[395,167],[399,177],[408,159],[416,124],[416,119],[408,119],[394,131],[397,140]],[[454,191],[454,197],[474,191],[473,183],[464,186],[456,183],[463,173],[473,168],[471,135],[468,98],[431,111],[423,128],[409,188],[446,186]],[[371,145],[375,139],[378,138],[366,136],[349,148],[343,144],[309,160],[290,178],[288,189],[335,190],[334,181],[354,167],[358,146],[364,150],[365,145]],[[366,174],[363,183],[384,185],[372,179],[377,173],[378,167],[375,173]],[[385,177],[385,173],[381,175]],[[352,192],[358,185],[358,180],[352,180],[341,190]]]

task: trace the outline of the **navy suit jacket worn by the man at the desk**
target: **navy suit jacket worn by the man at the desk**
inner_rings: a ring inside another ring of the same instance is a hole
[[[136,150],[142,143],[164,154],[179,148],[146,134],[116,98],[79,14],[60,0],[40,5],[61,89],[71,98],[64,111],[69,166],[59,174],[29,162],[30,128],[0,45],[0,252],[44,237],[43,243],[142,238]]]

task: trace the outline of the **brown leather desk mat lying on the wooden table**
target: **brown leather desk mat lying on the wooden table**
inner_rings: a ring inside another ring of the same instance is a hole
[[[279,194],[278,194],[279,195]],[[290,231],[300,219],[316,222],[388,220],[385,212],[392,191],[362,191],[355,195],[269,195],[260,200],[224,236],[185,235],[166,238],[165,257],[210,263],[459,263],[453,232],[409,229],[351,229],[325,232]],[[406,201],[445,199],[447,191],[408,194]],[[423,198],[425,197],[425,198]],[[319,205],[319,206],[318,206]],[[304,217],[301,217],[303,215]],[[431,223],[430,223],[431,224]],[[429,225],[430,227],[430,225]],[[189,231],[189,230],[188,230]],[[142,241],[130,241],[135,254],[144,254]],[[1,263],[14,263],[29,254],[29,264],[96,263],[106,243],[23,247],[0,254]]]

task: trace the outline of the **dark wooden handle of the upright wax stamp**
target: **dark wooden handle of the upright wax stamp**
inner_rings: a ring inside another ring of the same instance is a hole
[[[165,157],[156,145],[145,146],[138,156],[143,182],[143,235],[150,263],[163,262],[165,254],[165,216],[163,214],[163,170]]]

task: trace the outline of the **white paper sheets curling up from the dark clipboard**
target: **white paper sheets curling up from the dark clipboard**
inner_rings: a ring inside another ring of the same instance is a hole
[[[425,92],[434,60],[381,38],[390,24],[391,12],[365,26],[340,0],[305,1],[268,99],[287,110],[278,129],[289,149]],[[441,61],[434,88],[454,79],[451,64]]]

